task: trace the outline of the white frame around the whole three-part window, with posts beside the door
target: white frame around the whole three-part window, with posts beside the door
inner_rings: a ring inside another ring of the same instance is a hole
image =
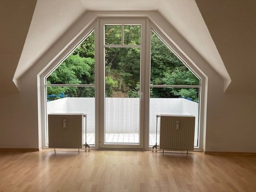
[[[97,38],[99,37],[99,18],[100,20],[102,19],[132,19],[132,20],[145,20],[146,24],[146,33],[143,38],[145,38],[145,53],[144,55],[141,55],[141,59],[144,58],[145,64],[145,76],[144,78],[144,83],[141,81],[140,83],[145,86],[142,89],[143,93],[143,100],[141,100],[141,108],[143,108],[143,117],[141,117],[141,121],[143,123],[143,146],[140,147],[139,149],[148,149],[149,147],[149,84],[150,84],[150,44],[151,44],[151,29],[153,29],[161,38],[162,40],[173,50],[173,52],[179,56],[183,60],[184,63],[193,71],[195,74],[200,78],[201,82],[201,88],[200,88],[200,105],[199,105],[199,136],[198,136],[198,148],[197,150],[202,150],[203,149],[203,131],[205,130],[206,126],[206,104],[207,104],[207,77],[206,75],[200,71],[200,69],[193,63],[192,60],[179,48],[179,46],[171,39],[171,34],[170,31],[173,29],[168,28],[168,24],[166,22],[160,22],[159,24],[156,24],[155,20],[161,19],[161,16],[158,13],[155,12],[135,12],[135,13],[130,13],[127,12],[118,12],[113,14],[112,12],[91,12],[88,13],[91,16],[92,21],[90,24],[88,24],[88,27],[84,28],[81,33],[77,34],[73,38],[73,41],[70,42],[68,45],[66,45],[61,53],[54,57],[50,63],[45,67],[45,69],[38,74],[39,76],[39,81],[40,81],[40,103],[41,103],[41,109],[40,109],[40,119],[41,119],[41,126],[42,126],[42,146],[43,148],[47,148],[48,146],[46,145],[46,91],[45,91],[45,77],[52,72],[63,60],[63,58],[66,58],[74,48],[81,42],[82,39],[87,36],[91,30],[94,29],[95,31],[95,109],[96,109],[96,114],[95,114],[95,148],[99,148],[99,135],[100,135],[100,130],[102,128],[102,123],[104,119],[104,115],[102,115],[102,112],[104,113],[104,110],[102,109],[102,106],[104,106],[103,98],[102,98],[102,86],[104,86],[104,82],[102,82],[102,79],[100,80],[100,75],[104,71],[101,70],[100,67],[100,58],[104,57],[98,57],[99,55],[101,56],[102,53],[100,53],[100,48],[99,48],[99,42],[103,42],[101,39]],[[96,16],[93,16],[96,15]],[[104,15],[104,16],[102,16]],[[159,17],[160,16],[160,17]],[[162,27],[162,28],[161,28]],[[167,30],[166,30],[167,29]],[[164,31],[166,30],[166,31]],[[142,40],[142,39],[141,39]],[[142,54],[142,53],[141,53]],[[142,63],[142,60],[141,60]],[[141,71],[143,70],[142,68],[140,69]],[[142,77],[141,77],[142,78]],[[142,126],[142,125],[141,125]],[[111,147],[111,146],[109,146]],[[113,146],[114,148],[119,148],[117,145]],[[120,146],[122,148],[122,146]],[[136,148],[135,148],[136,149]],[[138,149],[138,148],[137,148]]]

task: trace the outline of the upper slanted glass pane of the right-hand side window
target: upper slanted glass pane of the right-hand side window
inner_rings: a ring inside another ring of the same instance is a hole
[[[156,35],[151,33],[150,84],[199,85],[199,79]]]

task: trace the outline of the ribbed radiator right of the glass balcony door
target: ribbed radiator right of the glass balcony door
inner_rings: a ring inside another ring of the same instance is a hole
[[[160,115],[160,149],[194,150],[195,117]]]

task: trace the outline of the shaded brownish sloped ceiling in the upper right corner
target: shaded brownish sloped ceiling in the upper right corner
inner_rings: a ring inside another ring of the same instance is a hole
[[[256,91],[256,0],[196,0],[232,79],[230,91]]]

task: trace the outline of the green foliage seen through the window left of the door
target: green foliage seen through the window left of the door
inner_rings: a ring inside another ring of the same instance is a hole
[[[47,78],[47,84],[94,84],[94,32]],[[92,87],[48,87],[47,95],[94,96]],[[49,100],[56,99],[48,97]]]

